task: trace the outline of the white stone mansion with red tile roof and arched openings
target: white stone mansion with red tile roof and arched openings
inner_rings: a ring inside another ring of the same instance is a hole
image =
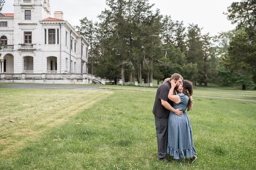
[[[88,73],[89,42],[50,12],[50,0],[14,0],[14,14],[0,13],[1,73]]]

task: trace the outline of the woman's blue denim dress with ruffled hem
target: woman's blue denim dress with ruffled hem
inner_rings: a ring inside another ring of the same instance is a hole
[[[167,138],[167,154],[173,156],[174,159],[185,159],[186,157],[193,157],[197,155],[192,129],[189,117],[185,112],[188,106],[188,97],[183,93],[178,94],[180,103],[176,104],[173,102],[173,108],[181,108],[183,111],[182,116],[178,116],[172,111],[169,115],[168,121],[168,138]]]

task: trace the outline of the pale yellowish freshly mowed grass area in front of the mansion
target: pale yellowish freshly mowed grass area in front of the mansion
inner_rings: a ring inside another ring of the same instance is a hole
[[[0,89],[0,152],[12,157],[111,91]]]

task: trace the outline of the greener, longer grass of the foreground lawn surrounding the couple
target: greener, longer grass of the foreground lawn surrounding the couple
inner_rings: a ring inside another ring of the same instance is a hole
[[[198,160],[190,165],[157,160],[154,98],[154,93],[114,91],[27,143],[18,152],[22,156],[1,159],[0,169],[255,168],[255,102],[194,97],[188,115]]]

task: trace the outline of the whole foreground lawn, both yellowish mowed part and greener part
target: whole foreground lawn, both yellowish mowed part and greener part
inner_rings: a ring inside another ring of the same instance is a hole
[[[155,93],[0,89],[0,94],[0,169],[256,166],[256,102],[194,97],[189,117],[198,159],[190,165],[170,156],[172,163],[157,160]]]

